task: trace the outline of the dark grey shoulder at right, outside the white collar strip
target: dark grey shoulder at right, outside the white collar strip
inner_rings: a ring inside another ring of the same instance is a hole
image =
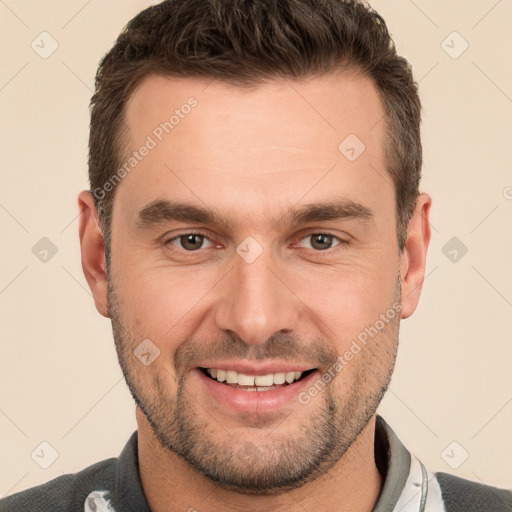
[[[446,512],[510,512],[512,491],[436,473]]]

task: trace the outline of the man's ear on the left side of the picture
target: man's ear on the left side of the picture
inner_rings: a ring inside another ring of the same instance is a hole
[[[80,192],[78,208],[80,210],[79,236],[82,269],[94,297],[96,309],[100,315],[108,318],[105,243],[94,198],[90,191]]]

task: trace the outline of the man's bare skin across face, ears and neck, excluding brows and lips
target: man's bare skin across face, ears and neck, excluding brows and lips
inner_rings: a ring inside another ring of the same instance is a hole
[[[382,486],[375,409],[399,317],[421,293],[431,200],[418,197],[399,252],[384,109],[368,78],[333,73],[243,90],[150,76],[126,108],[128,153],[190,96],[197,107],[116,187],[108,269],[93,198],[79,195],[82,266],[138,404],[151,510],[370,511]],[[354,161],[338,150],[348,134],[366,146]],[[157,199],[211,208],[232,226],[138,227]],[[294,207],[333,200],[372,217],[284,221]],[[178,235],[197,230],[208,238],[187,252]],[[318,233],[334,235],[332,246],[313,245]],[[252,263],[236,252],[247,236],[262,249]],[[400,314],[306,405],[237,413],[193,371],[206,359],[291,360],[320,376],[396,302]],[[133,355],[144,339],[160,350],[148,366]]]

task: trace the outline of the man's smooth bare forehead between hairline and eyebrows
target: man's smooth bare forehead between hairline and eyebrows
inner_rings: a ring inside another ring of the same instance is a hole
[[[355,73],[247,89],[150,76],[127,103],[125,124],[124,163],[151,147],[118,185],[114,203],[129,211],[179,196],[275,213],[301,197],[351,199],[390,184],[383,105],[373,82]]]

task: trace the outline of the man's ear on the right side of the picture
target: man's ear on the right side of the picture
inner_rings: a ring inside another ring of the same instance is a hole
[[[430,206],[432,200],[427,194],[420,194],[414,213],[407,225],[407,240],[400,257],[402,281],[402,318],[411,316],[420,300],[427,249],[430,242]]]

